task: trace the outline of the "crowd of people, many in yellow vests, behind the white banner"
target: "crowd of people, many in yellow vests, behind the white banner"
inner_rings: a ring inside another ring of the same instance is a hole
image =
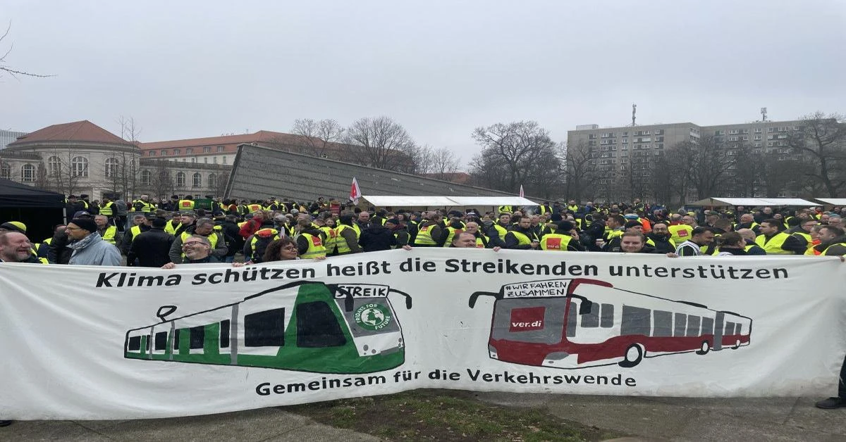
[[[846,255],[846,209],[715,208],[670,211],[645,205],[544,202],[497,210],[361,209],[337,199],[206,199],[173,195],[129,204],[69,195],[67,224],[30,241],[20,221],[0,224],[0,262],[129,265],[173,269],[195,263],[259,265],[326,259],[392,248],[503,248],[622,252],[672,257],[766,254]],[[131,215],[134,214],[134,215]],[[127,219],[131,215],[131,221]],[[843,258],[841,258],[843,259]],[[844,363],[841,379],[846,379]],[[818,407],[846,407],[841,396]],[[0,421],[0,425],[3,425]]]

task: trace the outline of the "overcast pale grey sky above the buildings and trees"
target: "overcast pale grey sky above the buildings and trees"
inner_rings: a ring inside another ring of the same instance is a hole
[[[846,112],[846,1],[2,0],[0,128],[140,140],[386,115],[469,161],[475,127],[736,123]],[[4,25],[5,26],[5,25]]]

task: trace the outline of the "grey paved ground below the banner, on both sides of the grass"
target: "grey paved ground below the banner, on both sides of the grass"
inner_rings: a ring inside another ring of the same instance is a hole
[[[632,434],[626,440],[846,441],[846,409],[818,398],[686,399],[478,393],[481,401],[547,407],[552,414]],[[377,440],[263,408],[211,416],[132,421],[34,421],[0,428],[0,440]]]

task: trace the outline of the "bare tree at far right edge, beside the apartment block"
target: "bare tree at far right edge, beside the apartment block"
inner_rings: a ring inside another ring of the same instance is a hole
[[[843,115],[816,112],[801,118],[799,130],[778,134],[795,153],[810,159],[814,168],[806,171],[818,180],[828,196],[836,198],[846,185],[846,123]]]

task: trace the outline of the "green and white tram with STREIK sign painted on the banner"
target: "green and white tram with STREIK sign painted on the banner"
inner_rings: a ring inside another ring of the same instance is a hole
[[[177,363],[373,373],[405,361],[403,332],[389,293],[376,284],[297,281],[222,307],[129,330],[124,357]]]

